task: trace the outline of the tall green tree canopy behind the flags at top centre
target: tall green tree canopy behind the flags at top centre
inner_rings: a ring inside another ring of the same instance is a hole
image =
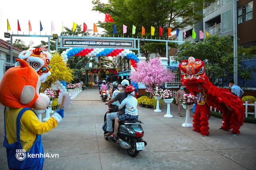
[[[115,21],[117,35],[122,36],[123,24],[127,26],[126,37],[132,37],[132,25],[136,26],[135,37],[141,36],[142,25],[150,36],[150,27],[155,27],[155,37],[159,37],[159,27],[163,27],[163,37],[168,37],[168,27],[172,30],[183,29],[188,25],[194,25],[202,19],[202,10],[205,4],[215,0],[109,0],[102,3],[94,0],[92,10],[100,13],[108,13]],[[113,35],[113,23],[98,21],[98,26],[105,29],[107,35]],[[169,44],[172,48],[174,44]],[[162,57],[166,55],[165,43],[144,42],[141,44],[141,53],[148,58],[148,53],[159,53]]]

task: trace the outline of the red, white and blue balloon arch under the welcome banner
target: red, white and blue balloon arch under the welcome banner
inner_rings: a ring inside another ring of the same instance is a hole
[[[106,57],[126,57],[130,59],[131,63],[131,71],[136,71],[137,63],[139,59],[137,55],[129,49],[113,49],[113,48],[70,48],[63,51],[61,56],[63,57],[64,61],[68,61],[69,57],[76,56],[76,57],[99,57],[99,56],[106,56]],[[131,82],[132,86],[138,92],[138,83]]]

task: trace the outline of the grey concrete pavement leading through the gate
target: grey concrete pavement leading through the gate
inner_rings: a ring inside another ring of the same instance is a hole
[[[4,140],[3,107],[0,108],[0,142]],[[169,170],[218,169],[243,170],[256,167],[256,125],[244,123],[241,134],[220,131],[222,120],[212,117],[210,136],[202,137],[192,128],[182,127],[185,117],[179,117],[171,106],[173,118],[165,118],[166,109],[156,113],[138,106],[139,119],[144,123],[146,150],[136,158],[103,137],[103,116],[107,106],[96,89],[84,90],[73,100],[65,117],[52,131],[42,135],[44,152],[59,154],[46,158],[44,170]],[[185,110],[183,110],[185,115]],[[192,116],[191,116],[192,120]],[[0,147],[0,169],[7,169],[6,151]]]

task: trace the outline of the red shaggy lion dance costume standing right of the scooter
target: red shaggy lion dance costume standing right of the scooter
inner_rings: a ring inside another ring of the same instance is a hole
[[[194,131],[203,136],[209,135],[208,107],[212,106],[222,112],[223,125],[220,129],[232,129],[232,135],[240,133],[239,129],[244,122],[244,106],[238,96],[230,90],[214,86],[205,75],[204,62],[194,57],[179,64],[181,82],[197,97],[198,105],[193,115]]]

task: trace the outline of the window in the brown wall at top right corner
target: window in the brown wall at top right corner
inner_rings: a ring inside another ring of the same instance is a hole
[[[252,1],[238,7],[238,24],[252,19]]]

